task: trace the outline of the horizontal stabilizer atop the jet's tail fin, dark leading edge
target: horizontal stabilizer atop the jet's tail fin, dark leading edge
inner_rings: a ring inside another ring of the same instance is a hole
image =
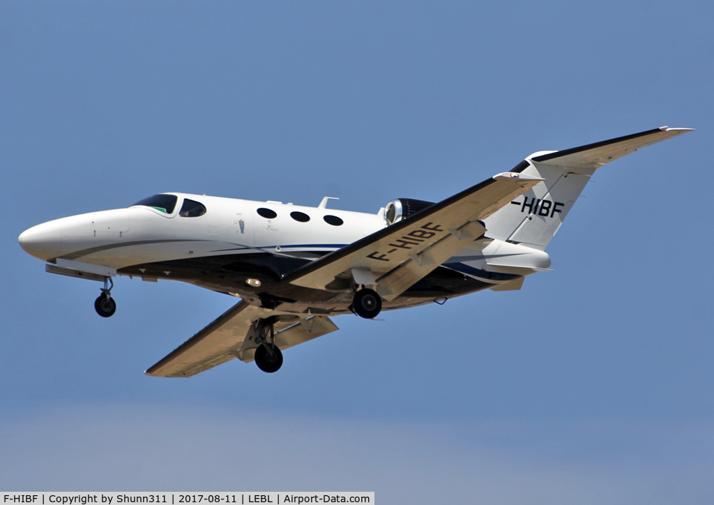
[[[662,126],[654,130],[642,131],[638,134],[621,136],[617,139],[605,140],[587,146],[555,151],[541,156],[535,156],[533,161],[539,165],[562,166],[568,169],[583,169],[587,175],[592,175],[595,169],[614,159],[633,153],[640,148],[651,146],[657,142],[671,139],[673,136],[692,131],[691,128],[670,128]]]

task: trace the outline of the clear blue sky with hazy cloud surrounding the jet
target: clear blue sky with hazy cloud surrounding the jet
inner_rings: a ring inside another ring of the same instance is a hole
[[[710,503],[705,2],[0,5],[0,488]],[[376,212],[658,126],[515,292],[335,319],[278,374],[142,372],[233,304],[44,273],[50,219],[163,191]],[[265,469],[271,469],[266,471]]]

